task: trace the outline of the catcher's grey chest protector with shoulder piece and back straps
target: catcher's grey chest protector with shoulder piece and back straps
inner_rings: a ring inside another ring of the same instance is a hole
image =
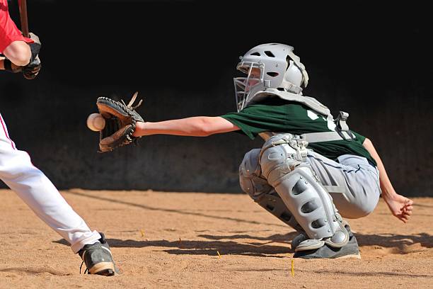
[[[248,101],[248,105],[253,103],[258,103],[265,98],[270,98],[277,96],[279,98],[284,99],[285,101],[292,101],[296,103],[301,103],[308,108],[311,108],[312,111],[317,113],[318,115],[322,115],[328,122],[335,123],[334,130],[330,130],[329,132],[310,132],[301,135],[300,137],[307,142],[330,142],[333,140],[354,140],[355,136],[349,130],[349,127],[346,123],[347,118],[349,118],[349,113],[344,111],[340,111],[337,118],[334,120],[333,115],[331,115],[328,107],[324,106],[320,101],[316,98],[310,96],[302,96],[301,94],[293,94],[288,91],[279,91],[278,89],[266,89],[265,91],[258,91],[250,101]],[[260,137],[262,139],[267,140],[272,135],[278,135],[282,132],[260,132]]]

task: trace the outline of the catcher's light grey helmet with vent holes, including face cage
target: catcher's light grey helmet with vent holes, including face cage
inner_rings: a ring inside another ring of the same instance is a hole
[[[280,89],[301,94],[301,86],[308,84],[308,74],[300,58],[290,45],[266,43],[253,47],[239,57],[237,69],[247,77],[235,77],[235,93],[238,111],[246,107],[258,91]]]

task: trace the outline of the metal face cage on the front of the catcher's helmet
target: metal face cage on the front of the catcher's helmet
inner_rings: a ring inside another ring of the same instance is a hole
[[[247,74],[246,77],[233,78],[238,112],[243,110],[250,95],[253,96],[255,92],[265,89],[263,85],[264,67],[265,64],[260,62],[239,62],[236,66],[236,69]],[[259,78],[251,75],[253,68],[260,69]]]

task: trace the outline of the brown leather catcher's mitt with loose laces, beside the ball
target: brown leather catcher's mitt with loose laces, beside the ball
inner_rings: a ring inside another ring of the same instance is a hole
[[[99,152],[111,152],[117,147],[129,145],[131,142],[137,144],[139,137],[132,136],[132,133],[134,133],[137,121],[144,122],[137,111],[134,111],[142,104],[142,100],[137,106],[132,106],[137,95],[138,92],[132,96],[127,105],[123,101],[115,101],[103,96],[98,97],[96,106],[98,106],[100,115],[105,118],[105,128],[99,133]]]

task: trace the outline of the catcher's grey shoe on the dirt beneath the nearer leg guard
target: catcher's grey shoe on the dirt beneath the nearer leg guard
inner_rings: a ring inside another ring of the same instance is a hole
[[[313,249],[308,251],[295,251],[293,257],[302,258],[302,259],[337,259],[337,258],[361,259],[361,255],[359,254],[359,246],[358,246],[357,238],[354,237],[354,234],[350,230],[350,226],[348,224],[345,225],[345,228],[347,229],[347,232],[349,232],[349,242],[345,246],[342,246],[341,248],[335,248],[333,246],[329,246],[328,244],[324,244],[318,249]],[[297,243],[297,245],[299,245],[299,243]]]

